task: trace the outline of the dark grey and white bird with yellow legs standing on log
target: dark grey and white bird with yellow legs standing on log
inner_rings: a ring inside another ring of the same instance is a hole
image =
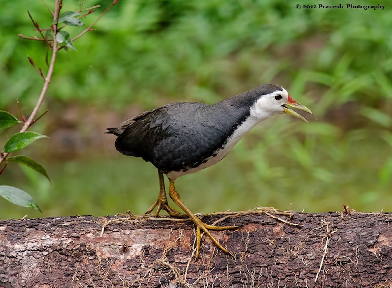
[[[200,254],[201,231],[223,252],[229,251],[209,230],[236,229],[236,226],[216,226],[203,223],[181,200],[174,181],[222,160],[234,145],[256,124],[276,114],[288,113],[303,121],[305,117],[291,108],[312,112],[294,100],[287,90],[276,84],[263,84],[242,94],[215,104],[176,102],[145,111],[128,119],[106,133],[117,136],[116,149],[128,156],[142,157],[158,169],[160,191],[155,207],[172,217],[189,217],[196,227],[196,253]],[[169,179],[169,196],[185,214],[169,206],[164,176]]]

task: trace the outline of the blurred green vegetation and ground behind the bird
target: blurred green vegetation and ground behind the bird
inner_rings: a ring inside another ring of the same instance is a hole
[[[111,3],[84,2],[102,11]],[[11,164],[1,185],[17,183],[43,216],[143,213],[158,196],[156,169],[114,151],[104,128],[173,101],[215,103],[273,82],[315,116],[309,124],[288,115],[262,122],[219,164],[177,180],[190,209],[287,210],[292,203],[309,212],[340,211],[342,204],[391,211],[392,6],[296,9],[297,2],[120,1],[95,32],[74,42],[78,52],[58,55],[44,105],[50,115],[34,128],[51,139],[29,148],[50,167],[53,185]],[[42,88],[26,56],[46,67],[44,44],[16,36],[34,35],[26,10],[50,25],[42,2],[0,1],[0,109],[15,115],[16,99],[27,113]],[[5,202],[0,218],[42,216]]]

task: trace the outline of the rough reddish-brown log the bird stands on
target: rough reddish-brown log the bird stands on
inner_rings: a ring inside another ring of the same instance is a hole
[[[391,287],[392,213],[203,217],[217,220],[239,227],[212,231],[232,255],[203,237],[196,261],[190,222],[142,216],[2,220],[0,287]]]

